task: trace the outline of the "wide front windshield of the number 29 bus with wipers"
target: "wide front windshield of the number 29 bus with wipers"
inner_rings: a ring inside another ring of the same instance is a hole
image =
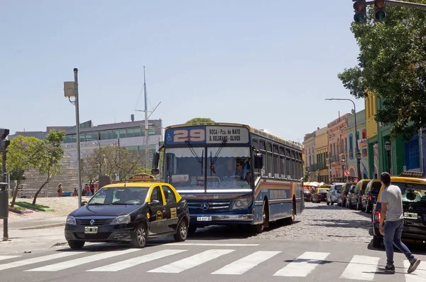
[[[206,158],[207,157],[207,158]],[[206,168],[207,162],[207,171]],[[177,190],[251,188],[249,147],[165,148],[165,181]]]

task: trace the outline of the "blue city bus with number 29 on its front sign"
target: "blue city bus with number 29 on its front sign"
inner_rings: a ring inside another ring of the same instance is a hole
[[[190,230],[246,224],[261,233],[269,222],[292,224],[305,207],[302,145],[244,124],[178,124],[165,128],[153,175],[185,198]]]

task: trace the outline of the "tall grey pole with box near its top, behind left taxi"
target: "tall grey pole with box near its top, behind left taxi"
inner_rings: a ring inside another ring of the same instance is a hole
[[[78,181],[78,207],[82,202],[82,178],[81,178],[81,156],[80,156],[80,114],[78,106],[78,69],[74,69],[74,81],[64,82],[64,94],[75,105],[75,127],[77,131],[77,181]],[[70,97],[75,97],[75,101],[71,101]]]

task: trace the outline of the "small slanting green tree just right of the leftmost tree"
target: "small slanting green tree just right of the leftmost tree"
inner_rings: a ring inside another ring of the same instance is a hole
[[[38,194],[45,187],[46,184],[50,183],[53,176],[60,173],[62,168],[61,160],[64,157],[64,149],[60,146],[62,140],[65,138],[65,131],[50,130],[43,141],[43,150],[40,151],[40,166],[38,167],[38,173],[45,175],[45,182],[35,192],[33,198],[33,205],[37,200]]]

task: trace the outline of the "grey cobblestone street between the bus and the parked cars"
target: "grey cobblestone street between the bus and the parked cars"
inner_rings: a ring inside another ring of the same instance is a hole
[[[324,202],[305,203],[302,215],[295,224],[271,224],[271,228],[258,234],[258,239],[293,239],[371,242],[371,214],[346,207],[326,205]]]

